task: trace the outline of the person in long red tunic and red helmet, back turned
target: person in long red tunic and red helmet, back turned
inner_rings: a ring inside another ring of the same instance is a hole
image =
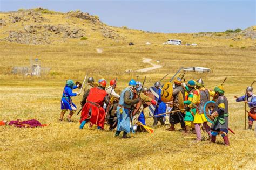
[[[83,107],[80,119],[80,129],[84,128],[85,123],[96,124],[98,129],[104,129],[105,109],[104,102],[109,104],[109,97],[105,91],[106,81],[99,83],[98,87],[91,88],[87,97],[87,102]]]

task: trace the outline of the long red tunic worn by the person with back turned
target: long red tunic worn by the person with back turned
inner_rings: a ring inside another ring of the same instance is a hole
[[[87,97],[87,103],[84,105],[81,113],[80,123],[86,119],[90,119],[92,124],[97,124],[104,128],[105,110],[102,107],[104,97],[107,95],[106,91],[98,87],[91,88]],[[94,104],[93,104],[94,103]],[[91,118],[89,112],[91,110]],[[98,117],[98,120],[97,120]]]

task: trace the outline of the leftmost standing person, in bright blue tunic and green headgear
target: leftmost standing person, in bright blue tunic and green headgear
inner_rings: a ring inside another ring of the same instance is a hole
[[[73,89],[78,88],[79,85],[75,86],[75,83],[72,80],[66,81],[66,86],[63,90],[62,94],[62,100],[60,101],[60,109],[62,109],[62,112],[60,112],[60,121],[63,121],[64,114],[70,110],[69,115],[67,116],[68,122],[71,122],[71,117],[74,114],[74,112],[77,110],[76,105],[72,102],[71,97],[77,96],[80,93],[73,93]]]

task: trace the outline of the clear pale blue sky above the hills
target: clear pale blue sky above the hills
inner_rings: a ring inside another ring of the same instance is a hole
[[[39,6],[60,12],[79,9],[99,16],[102,22],[111,26],[164,33],[219,32],[256,25],[254,0],[0,0],[0,11]]]

